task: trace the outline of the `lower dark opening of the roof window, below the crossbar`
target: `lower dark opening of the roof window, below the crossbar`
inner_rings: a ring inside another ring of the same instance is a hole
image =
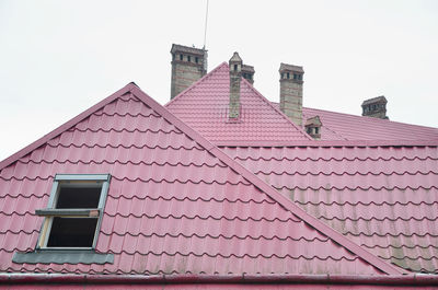
[[[93,245],[96,224],[96,218],[55,217],[47,246],[91,247]]]

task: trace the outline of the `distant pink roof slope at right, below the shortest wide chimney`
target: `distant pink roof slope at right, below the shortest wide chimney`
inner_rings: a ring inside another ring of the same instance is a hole
[[[302,115],[304,121],[320,116],[321,140],[438,140],[438,128],[309,107]]]

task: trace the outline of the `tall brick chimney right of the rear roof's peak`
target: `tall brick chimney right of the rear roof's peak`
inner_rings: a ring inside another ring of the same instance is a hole
[[[302,126],[302,67],[280,63],[280,109],[296,125]]]

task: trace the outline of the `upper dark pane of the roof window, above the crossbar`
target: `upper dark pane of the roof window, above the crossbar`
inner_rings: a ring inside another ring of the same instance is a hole
[[[56,208],[97,208],[101,187],[61,186]]]

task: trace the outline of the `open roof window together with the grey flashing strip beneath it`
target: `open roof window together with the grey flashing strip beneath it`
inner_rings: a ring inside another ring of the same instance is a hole
[[[18,264],[106,264],[114,254],[96,253],[110,174],[57,174],[34,252],[15,252]]]

